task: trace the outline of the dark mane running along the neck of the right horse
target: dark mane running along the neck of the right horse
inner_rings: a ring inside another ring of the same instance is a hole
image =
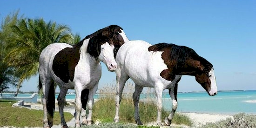
[[[205,67],[203,68],[203,71],[207,74],[209,74],[209,71],[213,67],[209,61],[205,60],[203,57],[196,54],[195,50],[186,46],[159,43],[148,47],[148,51],[164,51],[163,54],[167,54],[169,58],[168,64],[171,64],[175,69],[183,68],[185,66],[186,61],[188,61],[189,58],[192,58],[196,61],[200,61],[202,65]]]

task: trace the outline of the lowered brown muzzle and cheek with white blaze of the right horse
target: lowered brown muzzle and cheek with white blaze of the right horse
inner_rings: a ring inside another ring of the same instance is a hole
[[[195,80],[201,84],[202,88],[204,88],[209,95],[214,96],[218,93],[213,68],[211,68],[209,72],[202,71],[195,74]]]

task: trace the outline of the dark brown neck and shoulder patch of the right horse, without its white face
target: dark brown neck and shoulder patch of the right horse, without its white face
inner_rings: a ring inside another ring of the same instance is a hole
[[[209,74],[212,68],[209,61],[189,47],[159,43],[148,47],[148,51],[163,51],[162,59],[168,69],[163,70],[160,75],[168,81],[173,81],[175,75]]]

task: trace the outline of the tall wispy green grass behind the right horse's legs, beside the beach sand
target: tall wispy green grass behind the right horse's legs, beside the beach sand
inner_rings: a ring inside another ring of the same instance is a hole
[[[148,122],[156,121],[157,108],[156,103],[153,101],[139,102],[139,111],[141,122],[146,124]],[[127,95],[122,98],[119,121],[121,123],[135,123],[134,119],[134,105],[131,95]],[[169,111],[162,108],[162,122],[165,117],[170,114]],[[94,104],[93,108],[93,121],[100,120],[101,122],[113,122],[115,117],[115,95],[107,94],[100,97],[99,101]],[[192,126],[192,121],[188,116],[175,113],[172,123],[184,124]]]

